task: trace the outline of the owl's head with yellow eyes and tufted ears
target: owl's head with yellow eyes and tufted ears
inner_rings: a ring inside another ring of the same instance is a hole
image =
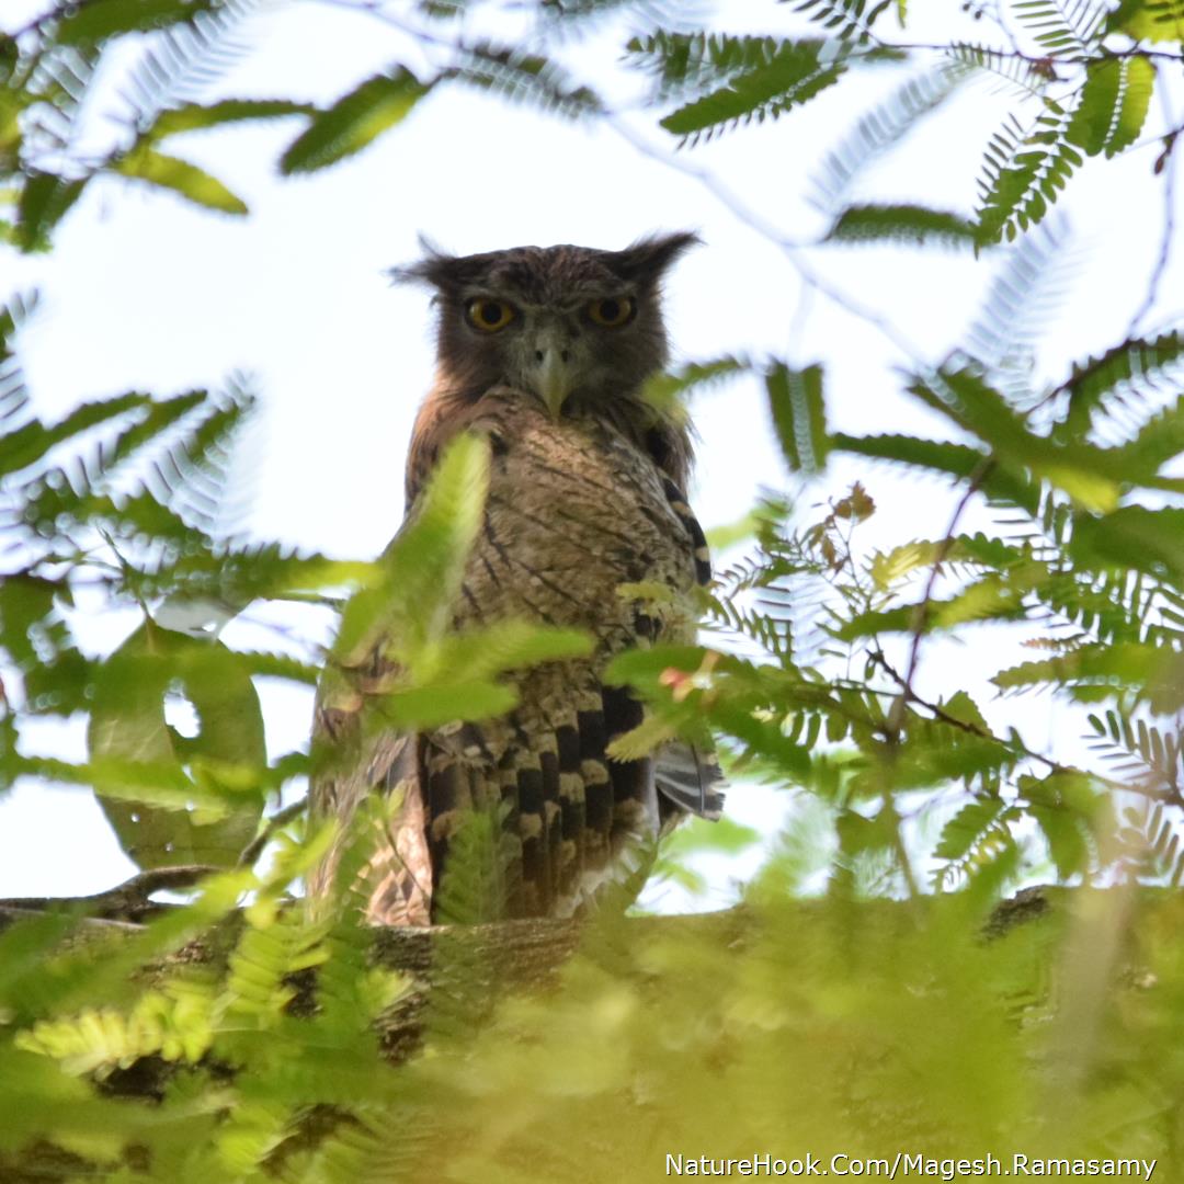
[[[667,361],[661,282],[694,234],[642,239],[623,251],[517,246],[431,253],[394,272],[438,294],[439,385],[480,399],[509,386],[560,416],[619,418]]]

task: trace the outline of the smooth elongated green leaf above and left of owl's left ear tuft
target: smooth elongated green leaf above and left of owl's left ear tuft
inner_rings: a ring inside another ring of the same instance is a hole
[[[377,75],[318,111],[279,157],[279,172],[311,173],[352,156],[404,120],[431,88],[410,70]]]

